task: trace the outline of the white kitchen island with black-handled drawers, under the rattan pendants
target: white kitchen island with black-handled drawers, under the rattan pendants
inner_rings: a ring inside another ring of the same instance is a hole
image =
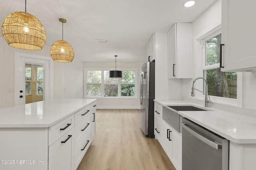
[[[0,169],[74,170],[95,135],[96,99],[0,109]]]

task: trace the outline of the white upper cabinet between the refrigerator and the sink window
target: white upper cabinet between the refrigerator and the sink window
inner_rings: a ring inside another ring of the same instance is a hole
[[[192,23],[175,23],[168,31],[168,78],[192,78]]]

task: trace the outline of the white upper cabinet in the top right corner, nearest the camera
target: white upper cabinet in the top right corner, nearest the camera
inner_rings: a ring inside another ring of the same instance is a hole
[[[222,0],[222,71],[256,71],[255,6],[255,0]]]

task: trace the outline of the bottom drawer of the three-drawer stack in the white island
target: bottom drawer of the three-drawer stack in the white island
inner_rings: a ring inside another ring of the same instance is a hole
[[[82,158],[84,157],[84,154],[86,153],[87,149],[90,146],[91,143],[91,132],[86,132],[84,138],[82,139],[82,142],[76,147],[74,152],[74,167],[75,169],[80,164]]]

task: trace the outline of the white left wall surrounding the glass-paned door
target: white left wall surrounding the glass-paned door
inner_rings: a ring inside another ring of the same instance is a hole
[[[0,37],[0,108],[14,106],[14,52],[50,57],[50,47],[30,51],[10,47]],[[72,63],[54,62],[54,98],[83,98],[83,63],[75,59]]]

